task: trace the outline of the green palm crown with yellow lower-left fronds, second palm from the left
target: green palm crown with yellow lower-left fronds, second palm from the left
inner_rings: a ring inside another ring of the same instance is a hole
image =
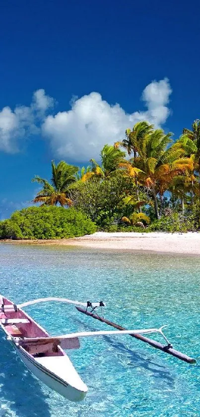
[[[91,172],[88,171],[82,176],[81,181],[86,181],[92,176],[99,176],[100,178],[107,178],[114,175],[120,170],[120,163],[124,161],[126,152],[116,149],[113,145],[104,145],[101,150],[101,163],[100,165],[95,159],[90,159],[92,164]]]

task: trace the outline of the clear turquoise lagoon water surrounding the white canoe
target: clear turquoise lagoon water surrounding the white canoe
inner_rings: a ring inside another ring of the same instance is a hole
[[[48,296],[104,300],[110,320],[129,328],[168,324],[174,347],[200,357],[198,257],[1,244],[0,293],[16,303]],[[26,311],[51,334],[110,329],[66,304]],[[129,336],[82,338],[81,348],[68,353],[89,387],[82,403],[46,388],[1,332],[0,341],[0,416],[200,416],[200,365]]]

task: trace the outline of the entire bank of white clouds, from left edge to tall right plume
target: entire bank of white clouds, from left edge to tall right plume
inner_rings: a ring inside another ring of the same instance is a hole
[[[142,92],[146,110],[126,113],[120,104],[109,104],[93,92],[78,99],[73,97],[70,110],[53,113],[55,101],[44,89],[33,93],[30,106],[18,105],[0,111],[0,151],[20,150],[20,140],[42,133],[55,157],[85,162],[97,158],[105,143],[113,144],[125,137],[125,130],[140,120],[162,126],[170,110],[172,93],[167,78],[152,81]]]

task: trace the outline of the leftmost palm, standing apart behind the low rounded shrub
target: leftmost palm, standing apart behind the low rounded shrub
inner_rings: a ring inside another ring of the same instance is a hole
[[[56,206],[58,203],[63,206],[70,206],[72,201],[68,198],[68,187],[76,181],[78,168],[60,161],[58,165],[52,161],[51,183],[36,175],[32,182],[42,184],[42,189],[37,193],[34,203]]]

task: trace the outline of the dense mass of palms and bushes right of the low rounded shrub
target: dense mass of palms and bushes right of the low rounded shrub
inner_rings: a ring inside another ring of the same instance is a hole
[[[108,231],[198,230],[200,121],[171,137],[145,121],[127,129],[122,142],[104,146],[100,163],[81,169],[69,187],[74,207]]]

